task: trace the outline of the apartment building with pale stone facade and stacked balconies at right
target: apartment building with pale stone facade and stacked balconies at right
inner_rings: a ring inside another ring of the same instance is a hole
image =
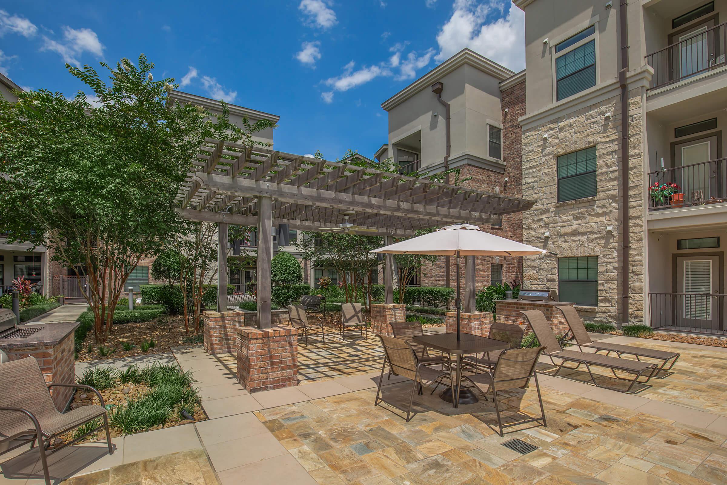
[[[526,284],[595,321],[723,332],[727,1],[513,3],[523,242],[550,251]]]

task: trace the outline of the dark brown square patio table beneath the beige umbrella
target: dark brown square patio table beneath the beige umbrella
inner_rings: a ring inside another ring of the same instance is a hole
[[[510,348],[510,344],[502,340],[463,333],[459,334],[459,340],[457,340],[457,333],[417,335],[416,337],[412,337],[411,340],[426,347],[441,350],[450,355],[454,353],[457,361],[457,366],[455,367],[457,375],[454,375],[455,370],[449,366],[449,378],[451,382],[456,382],[454,385],[454,393],[457,396],[452,396],[451,388],[447,388],[442,391],[439,397],[443,401],[453,403],[456,408],[459,407],[460,401],[463,404],[474,404],[479,401],[475,393],[471,390],[462,390],[460,388],[462,380],[462,357],[471,353],[492,352],[493,350],[507,350]]]

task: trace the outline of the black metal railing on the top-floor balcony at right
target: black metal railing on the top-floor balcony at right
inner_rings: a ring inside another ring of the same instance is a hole
[[[651,88],[668,86],[726,65],[726,25],[715,25],[647,55],[646,63],[654,68]]]

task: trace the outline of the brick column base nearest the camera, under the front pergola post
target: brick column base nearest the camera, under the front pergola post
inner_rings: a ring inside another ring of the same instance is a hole
[[[292,327],[237,329],[237,378],[249,392],[298,385],[298,334]]]

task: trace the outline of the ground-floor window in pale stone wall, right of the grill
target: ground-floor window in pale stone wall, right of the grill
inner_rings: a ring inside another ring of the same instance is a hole
[[[558,258],[558,296],[576,305],[598,305],[598,257]]]

